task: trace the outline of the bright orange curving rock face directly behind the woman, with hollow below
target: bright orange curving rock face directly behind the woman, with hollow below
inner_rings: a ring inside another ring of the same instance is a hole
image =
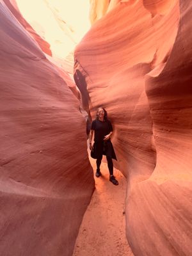
[[[127,12],[134,15],[127,16]],[[116,15],[118,19],[114,20]],[[170,26],[167,26],[168,17],[172,17]],[[168,56],[178,21],[178,3],[167,16],[154,19],[142,1],[118,4],[92,26],[76,47],[74,76],[81,79],[81,86],[77,86],[83,106],[86,110],[90,106],[93,115],[99,106],[108,109],[115,125],[113,142],[118,151],[118,167],[126,176],[133,173],[132,178],[136,173],[150,175],[156,164],[145,74]],[[169,40],[164,44],[163,28],[169,33]]]

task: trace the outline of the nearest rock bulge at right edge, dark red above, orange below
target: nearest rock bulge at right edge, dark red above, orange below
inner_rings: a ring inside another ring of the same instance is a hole
[[[150,179],[132,191],[128,221],[135,216],[135,210],[142,212],[142,219],[136,218],[138,223],[133,223],[127,232],[132,236],[131,230],[144,222],[149,230],[145,243],[149,244],[153,237],[153,244],[147,248],[151,255],[192,252],[191,11],[191,1],[180,1],[180,23],[173,50],[162,72],[159,74],[159,67],[154,68],[145,83],[157,161]],[[146,203],[135,204],[139,201]],[[145,227],[141,224],[140,232]],[[133,243],[139,243],[140,238],[139,235],[132,239]],[[144,246],[134,246],[135,251],[140,254]]]

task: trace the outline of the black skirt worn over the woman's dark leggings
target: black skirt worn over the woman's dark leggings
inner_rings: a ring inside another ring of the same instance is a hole
[[[91,152],[91,157],[94,159],[102,158],[102,155],[109,156],[113,159],[116,159],[115,150],[111,140],[106,141],[95,141],[93,144],[93,150]]]

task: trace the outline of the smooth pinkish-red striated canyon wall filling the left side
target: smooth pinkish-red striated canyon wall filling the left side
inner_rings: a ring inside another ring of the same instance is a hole
[[[94,188],[79,101],[2,0],[0,17],[0,255],[72,255]]]

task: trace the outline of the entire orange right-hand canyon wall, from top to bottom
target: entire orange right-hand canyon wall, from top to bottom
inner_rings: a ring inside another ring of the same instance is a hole
[[[76,48],[83,106],[92,116],[104,106],[113,121],[134,255],[190,255],[192,4],[109,4]]]

